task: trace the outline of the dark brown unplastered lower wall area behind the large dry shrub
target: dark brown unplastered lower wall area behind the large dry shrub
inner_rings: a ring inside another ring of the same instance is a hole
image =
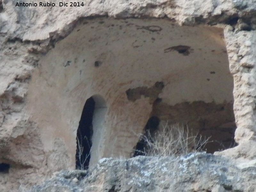
[[[237,146],[234,139],[236,123],[232,101],[220,104],[194,101],[168,105],[163,100],[157,100],[153,104],[151,115],[157,116],[158,124],[161,124],[157,130],[161,131],[163,125],[172,127],[172,125],[179,124],[181,128],[187,127],[188,134],[196,136],[196,140],[200,140],[200,142],[207,140],[205,145],[199,145],[200,149],[207,153]],[[148,123],[150,120],[151,118]],[[148,138],[147,132],[144,135]],[[145,146],[145,142],[139,140],[134,156],[143,155],[136,150],[144,150]],[[198,150],[198,148],[196,149]]]

